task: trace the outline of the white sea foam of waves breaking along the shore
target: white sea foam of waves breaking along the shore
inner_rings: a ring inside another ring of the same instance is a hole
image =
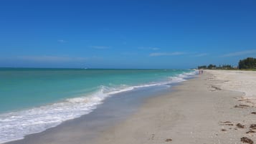
[[[61,102],[34,107],[29,110],[8,112],[0,115],[0,143],[23,139],[25,135],[40,133],[48,128],[60,125],[65,120],[71,120],[86,115],[103,103],[106,97],[136,90],[142,87],[170,85],[183,82],[186,78],[196,75],[196,72],[187,72],[176,77],[169,77],[163,82],[151,82],[145,85],[120,85],[116,87],[100,86],[97,92],[84,97],[75,97]]]

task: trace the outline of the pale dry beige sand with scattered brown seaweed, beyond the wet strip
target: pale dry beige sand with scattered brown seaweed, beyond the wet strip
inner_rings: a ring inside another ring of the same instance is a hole
[[[253,79],[255,72],[204,72],[169,95],[147,100],[133,116],[90,143],[256,143],[256,130],[250,128],[256,124],[256,107],[238,99],[245,96],[248,85],[256,88]]]

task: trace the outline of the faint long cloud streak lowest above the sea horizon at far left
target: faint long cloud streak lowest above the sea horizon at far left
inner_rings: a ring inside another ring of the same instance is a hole
[[[85,57],[57,57],[57,56],[23,56],[18,59],[29,60],[34,62],[82,62]]]

